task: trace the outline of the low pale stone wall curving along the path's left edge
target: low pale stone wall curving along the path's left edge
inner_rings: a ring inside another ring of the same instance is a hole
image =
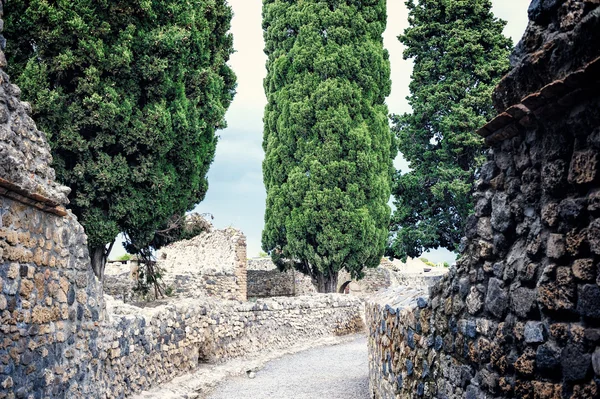
[[[342,295],[246,303],[178,300],[146,309],[109,302],[112,320],[100,328],[90,364],[99,385],[81,386],[71,397],[128,396],[203,362],[355,333],[364,328],[362,309],[360,300]]]

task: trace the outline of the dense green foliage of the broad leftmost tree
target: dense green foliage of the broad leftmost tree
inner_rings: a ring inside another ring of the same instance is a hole
[[[9,72],[90,248],[200,202],[235,88],[226,0],[13,0]]]

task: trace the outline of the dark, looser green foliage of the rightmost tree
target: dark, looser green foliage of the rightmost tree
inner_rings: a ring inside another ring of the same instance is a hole
[[[408,0],[399,36],[414,60],[412,113],[394,116],[398,149],[411,171],[394,179],[387,254],[455,250],[472,212],[473,181],[484,159],[475,130],[495,114],[491,93],[508,71],[510,39],[490,0]]]

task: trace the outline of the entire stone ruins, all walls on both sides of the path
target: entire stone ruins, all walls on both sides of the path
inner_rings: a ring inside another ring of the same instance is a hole
[[[0,399],[128,397],[364,320],[374,398],[600,397],[600,2],[534,0],[529,16],[478,132],[489,159],[460,260],[417,283],[371,271],[364,293],[387,290],[366,306],[247,266],[233,229],[162,250],[176,300],[105,296],[0,51]]]

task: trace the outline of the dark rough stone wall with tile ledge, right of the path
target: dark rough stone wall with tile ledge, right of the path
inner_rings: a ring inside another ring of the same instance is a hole
[[[367,306],[375,398],[600,397],[600,3],[530,17],[461,259]]]

